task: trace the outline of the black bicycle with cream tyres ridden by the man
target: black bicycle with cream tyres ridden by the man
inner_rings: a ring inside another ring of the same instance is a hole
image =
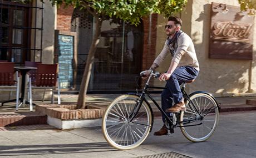
[[[152,108],[145,98],[146,95],[165,116],[165,126],[169,135],[174,133],[174,128],[179,127],[186,139],[192,142],[208,140],[219,121],[220,104],[214,96],[205,91],[195,91],[188,95],[185,91],[188,81],[181,84],[186,110],[165,113],[147,91],[149,88],[166,89],[149,86],[150,79],[158,78],[160,74],[146,70],[140,75],[145,72],[149,72],[150,75],[141,94],[121,95],[107,106],[102,118],[102,132],[106,141],[116,149],[128,150],[139,146],[146,139],[154,124]]]

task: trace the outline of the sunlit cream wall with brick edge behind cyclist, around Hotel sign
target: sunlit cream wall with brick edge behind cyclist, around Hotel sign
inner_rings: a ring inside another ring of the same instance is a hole
[[[190,0],[184,12],[180,14],[183,19],[182,30],[190,35],[194,42],[196,54],[200,64],[200,73],[193,84],[189,85],[189,91],[205,90],[217,96],[239,96],[246,92],[256,90],[256,62],[255,60],[234,60],[234,59],[213,59],[208,58],[210,38],[210,9],[211,2],[203,0]],[[239,6],[238,1],[216,0],[215,3],[225,3],[232,6]],[[164,25],[167,19],[159,16],[157,23],[156,56],[161,52],[166,35]],[[255,22],[254,22],[255,23]],[[254,39],[256,39],[254,25]],[[254,40],[253,56],[256,59]],[[170,56],[165,63],[157,69],[165,72],[170,64]],[[159,81],[155,81],[159,85]],[[164,83],[161,83],[164,85]],[[242,94],[241,94],[242,93]],[[249,94],[248,94],[249,95]]]

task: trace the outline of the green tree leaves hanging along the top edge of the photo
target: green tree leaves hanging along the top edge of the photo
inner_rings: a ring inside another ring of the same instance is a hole
[[[28,0],[29,1],[29,0]],[[32,0],[31,0],[32,1]],[[46,0],[45,0],[46,1]],[[90,7],[95,12],[95,16],[107,18],[119,18],[132,24],[140,23],[140,19],[151,13],[164,14],[168,17],[182,11],[187,0],[49,0],[52,4],[66,4],[76,8],[87,9]],[[249,2],[249,0],[238,0],[239,3]],[[86,7],[87,6],[87,7]],[[242,6],[246,8],[248,4]],[[250,5],[252,7],[253,5]],[[255,4],[256,6],[256,4]]]

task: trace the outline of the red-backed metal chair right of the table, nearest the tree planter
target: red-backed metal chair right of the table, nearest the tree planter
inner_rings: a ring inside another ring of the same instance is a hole
[[[32,105],[32,90],[33,91],[51,91],[53,103],[53,93],[58,91],[58,104],[61,104],[60,86],[57,74],[58,64],[40,64],[37,63],[37,72],[35,84],[32,84],[32,78],[29,77],[29,102]]]

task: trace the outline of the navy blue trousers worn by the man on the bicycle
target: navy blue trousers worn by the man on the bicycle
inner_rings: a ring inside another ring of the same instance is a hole
[[[173,101],[174,104],[180,103],[181,99],[183,99],[183,95],[180,90],[180,84],[188,80],[195,79],[198,76],[198,73],[198,70],[189,66],[178,67],[174,70],[169,80],[166,80],[165,86],[168,89],[164,89],[161,93],[161,105],[164,111],[173,106]],[[162,118],[164,122],[164,115]]]

